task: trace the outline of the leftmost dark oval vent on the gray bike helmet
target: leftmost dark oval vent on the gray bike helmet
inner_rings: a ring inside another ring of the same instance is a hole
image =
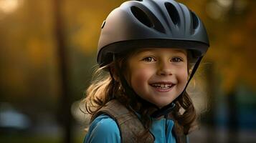
[[[138,21],[140,21],[142,24],[148,27],[153,27],[153,23],[143,10],[139,9],[136,6],[131,6],[131,12],[136,17],[136,19],[138,19]]]

